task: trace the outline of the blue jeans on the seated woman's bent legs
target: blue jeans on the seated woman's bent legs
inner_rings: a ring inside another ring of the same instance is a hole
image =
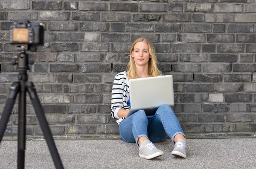
[[[168,135],[173,143],[175,135],[185,136],[176,115],[167,104],[160,106],[154,116],[146,116],[143,110],[139,110],[125,118],[119,125],[119,134],[125,142],[137,145],[142,136],[151,142],[160,142]]]

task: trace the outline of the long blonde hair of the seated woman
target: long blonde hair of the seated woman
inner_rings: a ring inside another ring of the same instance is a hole
[[[136,66],[135,66],[134,58],[131,57],[131,53],[134,50],[134,46],[138,42],[145,42],[145,43],[148,44],[148,50],[149,50],[149,54],[151,56],[151,58],[148,61],[148,77],[158,76],[161,73],[161,71],[157,68],[157,55],[156,55],[156,51],[154,49],[154,46],[153,46],[153,44],[151,43],[151,41],[149,39],[144,38],[144,37],[140,37],[139,39],[135,40],[134,43],[131,46],[130,61],[129,61],[128,65],[127,65],[128,77],[130,79],[138,78],[137,74],[136,74]]]

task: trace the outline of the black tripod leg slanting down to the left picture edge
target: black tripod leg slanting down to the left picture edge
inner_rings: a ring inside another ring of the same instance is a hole
[[[0,143],[3,138],[4,131],[6,129],[10,115],[12,114],[13,105],[15,103],[17,93],[20,90],[20,83],[13,83],[10,91],[9,98],[6,101],[6,106],[3,109],[3,114],[0,120]]]

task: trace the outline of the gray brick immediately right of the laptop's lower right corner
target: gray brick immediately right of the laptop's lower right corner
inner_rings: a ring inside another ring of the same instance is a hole
[[[174,112],[201,112],[201,104],[175,104]]]

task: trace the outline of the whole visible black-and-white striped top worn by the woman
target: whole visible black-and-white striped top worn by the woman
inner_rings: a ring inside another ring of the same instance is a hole
[[[126,71],[116,74],[111,96],[111,116],[113,118],[119,119],[117,112],[120,109],[131,110],[131,107],[127,105],[130,97],[129,91],[129,81]]]

